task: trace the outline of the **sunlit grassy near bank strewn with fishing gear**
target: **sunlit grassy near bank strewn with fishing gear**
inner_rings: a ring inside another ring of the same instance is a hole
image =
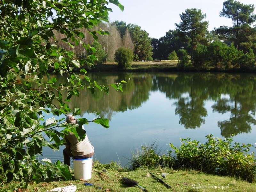
[[[105,168],[108,172],[104,172],[105,177],[100,175],[101,169]],[[38,184],[30,183],[27,192],[45,192],[56,187],[65,187],[68,185],[76,185],[76,192],[84,191],[142,191],[138,187],[126,187],[121,182],[122,177],[128,177],[133,180],[139,181],[139,185],[146,188],[148,191],[256,191],[256,183],[248,183],[242,180],[235,180],[231,177],[222,177],[217,175],[205,174],[199,171],[193,170],[172,170],[172,169],[151,169],[150,172],[162,179],[161,173],[166,174],[166,179],[163,179],[166,183],[172,186],[172,189],[167,189],[163,184],[157,182],[152,176],[145,170],[137,168],[135,170],[122,169],[115,163],[112,164],[100,164],[94,163],[92,172],[92,178],[90,180],[68,180],[63,181],[56,178],[56,181],[49,183],[42,182]],[[84,182],[92,183],[102,189],[97,189],[93,186],[85,186]],[[0,191],[11,192],[15,188],[17,183],[12,182],[4,185],[0,188]],[[204,186],[204,188],[196,189],[195,187]],[[223,189],[221,189],[223,186]],[[219,188],[218,188],[219,187]],[[225,188],[226,187],[226,188]],[[23,191],[22,189],[16,189],[15,191]]]

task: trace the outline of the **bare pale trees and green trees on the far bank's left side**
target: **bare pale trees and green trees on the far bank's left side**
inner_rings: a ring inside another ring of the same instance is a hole
[[[95,36],[88,34],[89,31],[97,31],[97,42],[94,42]],[[97,56],[98,61],[96,64],[102,64],[105,61],[114,61],[115,52],[118,48],[129,49],[133,52],[133,60],[147,60],[152,56],[151,38],[145,30],[140,26],[129,24],[126,25],[123,21],[114,21],[111,24],[101,22],[99,25],[94,26],[92,29],[80,30],[84,33],[85,38],[82,40],[85,44],[89,44],[95,48],[88,51],[86,47],[79,44],[76,38],[69,39],[63,35],[61,31],[54,31],[55,37],[59,40],[58,46],[64,50],[73,50],[75,57],[79,59],[86,58],[87,55],[94,54]],[[108,31],[109,35],[101,35],[101,31]],[[52,42],[56,39],[52,39]],[[61,40],[66,39],[66,42]],[[68,43],[68,44],[67,44]],[[76,44],[73,49],[70,44]]]

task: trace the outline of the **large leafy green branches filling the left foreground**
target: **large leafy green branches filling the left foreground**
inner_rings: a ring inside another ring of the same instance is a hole
[[[124,7],[117,1],[110,1],[120,9]],[[80,74],[87,83],[83,83],[78,74],[72,72],[72,65],[80,67],[84,63],[93,63],[94,55],[84,60],[74,58],[72,51],[57,46],[53,30],[60,31],[66,37],[63,43],[72,49],[82,44],[87,50],[91,47],[81,39],[81,28],[92,28],[101,20],[108,21],[107,1],[84,0],[27,0],[2,1],[0,4],[0,185],[11,180],[27,187],[30,181],[49,181],[53,174],[71,179],[67,165],[49,159],[39,161],[42,148],[48,146],[58,150],[63,145],[64,134],[73,132],[80,140],[85,137],[83,124],[94,122],[108,127],[108,119],[98,117],[92,121],[78,119],[78,126],[66,124],[64,118],[45,119],[44,113],[56,116],[71,113],[78,115],[80,109],[71,110],[68,102],[72,96],[79,96],[79,89],[95,88],[108,93],[107,85],[91,82],[84,69]],[[51,21],[50,21],[51,20]],[[96,33],[89,31],[97,40]],[[71,42],[69,40],[71,39]],[[49,71],[66,74],[68,82],[56,84],[55,77],[50,78]],[[46,81],[44,77],[46,76]],[[122,84],[112,84],[122,90]],[[61,90],[67,90],[63,97]],[[54,103],[58,102],[58,106]],[[99,114],[98,114],[99,115]],[[46,140],[43,134],[49,137]]]

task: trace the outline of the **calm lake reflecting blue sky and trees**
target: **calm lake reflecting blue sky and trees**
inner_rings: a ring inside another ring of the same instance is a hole
[[[95,123],[84,125],[95,148],[93,158],[101,163],[116,161],[128,166],[125,157],[154,140],[165,152],[171,149],[169,143],[180,146],[180,138],[205,142],[208,134],[233,135],[239,143],[256,142],[254,74],[94,72],[88,76],[100,84],[127,81],[123,92],[112,87],[108,95],[81,90],[80,97],[72,97],[69,103],[70,108],[81,109],[77,118],[92,120],[97,111],[109,119],[108,129]],[[67,80],[55,77],[62,83]],[[63,148],[56,152],[44,148],[40,158],[63,161]]]

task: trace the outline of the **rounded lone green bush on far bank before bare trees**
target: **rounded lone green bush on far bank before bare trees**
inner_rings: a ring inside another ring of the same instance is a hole
[[[115,61],[118,63],[120,68],[131,68],[132,59],[133,53],[129,48],[121,47],[118,48],[115,52]]]

